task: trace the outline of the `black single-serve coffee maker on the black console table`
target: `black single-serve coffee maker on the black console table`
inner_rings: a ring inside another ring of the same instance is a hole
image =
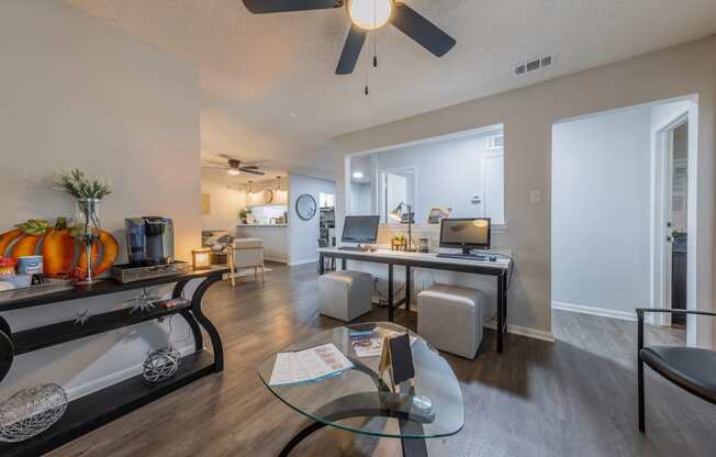
[[[169,218],[127,218],[126,248],[132,266],[167,265],[174,261],[174,223]]]

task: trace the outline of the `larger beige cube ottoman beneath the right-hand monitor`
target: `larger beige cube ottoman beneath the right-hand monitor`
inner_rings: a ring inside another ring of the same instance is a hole
[[[446,353],[473,359],[482,343],[482,292],[434,285],[417,294],[417,333]]]

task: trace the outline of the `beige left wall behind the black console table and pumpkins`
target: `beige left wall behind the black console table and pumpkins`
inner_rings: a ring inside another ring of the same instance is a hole
[[[201,244],[197,69],[58,1],[4,0],[0,30],[0,227],[74,215],[75,203],[51,178],[80,167],[113,180],[104,227],[116,234],[125,216],[170,216],[177,255],[188,258]],[[127,298],[2,315],[22,330],[115,309]],[[175,320],[172,339],[186,338],[182,323]],[[167,324],[145,323],[16,357],[0,399],[51,381],[77,397],[134,375],[149,348],[167,344]]]

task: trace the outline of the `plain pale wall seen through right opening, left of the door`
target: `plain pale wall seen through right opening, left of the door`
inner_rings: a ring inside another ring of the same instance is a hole
[[[557,308],[634,317],[635,308],[650,304],[650,107],[555,124]]]

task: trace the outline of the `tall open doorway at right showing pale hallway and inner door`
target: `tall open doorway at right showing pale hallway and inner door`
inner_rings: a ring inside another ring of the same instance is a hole
[[[552,126],[552,309],[620,320],[636,320],[636,308],[696,309],[695,105],[669,100]],[[649,319],[697,341],[695,322]]]

